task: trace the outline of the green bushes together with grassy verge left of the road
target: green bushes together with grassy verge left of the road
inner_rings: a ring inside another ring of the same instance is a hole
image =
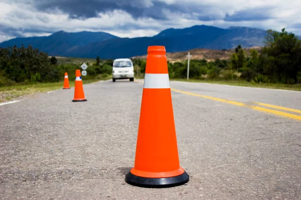
[[[73,86],[75,70],[81,69],[83,62],[88,65],[87,75],[82,77],[84,84],[111,78],[112,60],[101,61],[98,57],[96,63],[93,61],[49,57],[32,46],[0,48],[0,102],[62,88],[65,72],[68,72],[70,86]]]

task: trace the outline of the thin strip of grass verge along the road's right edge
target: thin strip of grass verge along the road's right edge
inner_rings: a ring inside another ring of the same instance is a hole
[[[262,87],[262,88],[272,88],[272,89],[287,89],[301,91],[301,84],[282,84],[282,83],[252,83],[246,80],[200,80],[200,79],[171,79],[178,81],[188,81],[188,82],[206,82],[213,84],[228,84],[237,86],[248,86],[248,87]]]

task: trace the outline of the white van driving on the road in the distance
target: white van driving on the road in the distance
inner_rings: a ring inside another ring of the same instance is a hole
[[[134,66],[131,59],[128,58],[120,58],[114,59],[113,61],[113,82],[116,79],[127,79],[130,81],[134,81]]]

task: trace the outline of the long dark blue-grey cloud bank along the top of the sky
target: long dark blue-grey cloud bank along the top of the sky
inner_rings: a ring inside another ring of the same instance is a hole
[[[18,2],[20,0],[11,0]],[[212,11],[212,5],[195,5],[194,3],[168,4],[160,0],[21,0],[33,5],[37,10],[53,13],[59,9],[70,18],[98,17],[99,13],[116,9],[129,13],[133,18],[150,17],[153,19],[169,19],[167,10],[178,15],[185,15],[186,19],[209,21],[225,19],[227,21],[264,20],[269,18],[266,10],[270,7],[259,9],[240,10],[234,15],[220,15]],[[227,10],[225,10],[227,11]],[[197,13],[197,14],[196,14]]]

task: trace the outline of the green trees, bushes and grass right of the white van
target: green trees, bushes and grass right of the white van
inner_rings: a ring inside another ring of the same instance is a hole
[[[202,81],[236,82],[247,86],[256,84],[267,87],[298,88],[284,84],[301,83],[301,41],[283,28],[281,32],[268,30],[265,46],[259,54],[251,49],[247,55],[241,45],[228,60],[190,60],[189,78]],[[139,63],[140,74],[145,70],[145,60],[133,59]],[[138,67],[138,66],[136,66]],[[171,79],[187,78],[187,60],[168,62]],[[269,85],[269,86],[268,86]],[[274,86],[272,86],[274,85]]]

